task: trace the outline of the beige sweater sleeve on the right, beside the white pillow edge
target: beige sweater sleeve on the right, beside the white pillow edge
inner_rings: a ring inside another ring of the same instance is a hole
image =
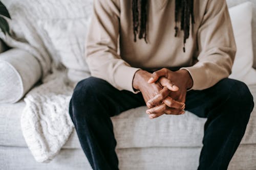
[[[230,16],[225,0],[209,0],[197,33],[198,62],[186,69],[193,79],[194,90],[214,86],[231,74],[236,55]]]

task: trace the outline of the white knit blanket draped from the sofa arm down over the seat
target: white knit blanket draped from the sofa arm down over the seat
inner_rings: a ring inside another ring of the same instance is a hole
[[[69,116],[73,87],[67,85],[65,72],[57,70],[57,64],[36,33],[38,30],[32,27],[33,23],[26,19],[25,14],[15,15],[9,23],[14,34],[11,37],[2,34],[0,38],[11,47],[31,53],[42,67],[43,83],[25,96],[26,107],[20,123],[35,160],[48,162],[58,154],[74,129]],[[49,75],[49,70],[53,74]]]

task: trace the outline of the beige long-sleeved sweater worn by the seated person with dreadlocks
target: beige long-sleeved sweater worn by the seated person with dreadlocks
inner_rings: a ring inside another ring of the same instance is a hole
[[[92,76],[135,92],[132,83],[138,69],[186,69],[194,90],[209,88],[230,75],[236,43],[225,0],[194,0],[196,23],[190,27],[185,53],[183,31],[174,36],[175,1],[148,2],[145,43],[138,38],[134,42],[132,0],[94,0],[86,43]]]

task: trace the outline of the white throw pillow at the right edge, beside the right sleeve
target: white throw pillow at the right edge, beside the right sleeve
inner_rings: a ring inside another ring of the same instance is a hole
[[[237,54],[229,78],[246,84],[256,84],[256,70],[253,65],[252,46],[252,4],[246,2],[229,9]]]

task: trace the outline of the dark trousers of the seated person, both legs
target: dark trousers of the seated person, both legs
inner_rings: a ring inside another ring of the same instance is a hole
[[[207,117],[198,169],[227,169],[254,106],[248,87],[226,78],[208,89],[188,91],[185,104],[185,110]],[[110,117],[144,105],[141,93],[119,91],[98,78],[77,84],[69,112],[93,169],[118,169]]]

